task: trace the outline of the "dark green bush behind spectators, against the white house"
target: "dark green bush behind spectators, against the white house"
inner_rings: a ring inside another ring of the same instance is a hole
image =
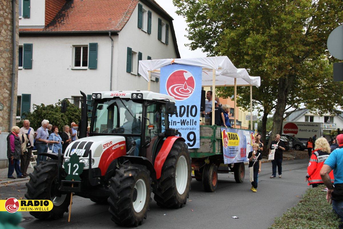
[[[67,112],[61,113],[61,103],[62,101],[60,100],[55,105],[33,104],[34,111],[32,113],[25,113],[25,119],[30,121],[30,126],[35,130],[42,126],[43,119],[47,119],[51,125],[58,126],[60,132],[63,131],[64,125],[70,126],[72,122],[79,123],[81,120],[81,109],[67,100]],[[22,127],[23,121],[18,122],[17,126]]]

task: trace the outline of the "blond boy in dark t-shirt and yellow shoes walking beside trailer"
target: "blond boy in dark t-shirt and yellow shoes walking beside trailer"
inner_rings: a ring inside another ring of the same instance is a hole
[[[253,192],[257,192],[258,174],[261,172],[262,154],[257,152],[258,148],[259,145],[257,143],[253,144],[252,151],[248,154],[250,181],[252,185],[250,190]]]

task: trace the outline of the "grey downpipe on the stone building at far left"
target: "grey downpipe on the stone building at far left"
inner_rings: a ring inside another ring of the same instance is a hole
[[[11,107],[10,107],[10,126],[13,126],[13,103],[14,103],[14,85],[15,85],[15,64],[16,64],[16,15],[15,15],[16,1],[12,0],[12,82],[11,82]]]

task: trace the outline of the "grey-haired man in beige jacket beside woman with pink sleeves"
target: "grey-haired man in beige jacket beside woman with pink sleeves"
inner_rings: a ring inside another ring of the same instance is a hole
[[[30,127],[30,121],[27,119],[23,122],[23,127],[20,128],[19,134],[26,134],[28,139],[27,144],[27,152],[24,152],[24,154],[20,157],[20,171],[23,174],[23,176],[28,176],[26,173],[28,165],[30,164],[31,156],[32,156],[32,149],[33,149],[33,143],[35,139],[35,130]]]

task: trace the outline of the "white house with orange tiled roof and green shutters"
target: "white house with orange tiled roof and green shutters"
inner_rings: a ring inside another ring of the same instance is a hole
[[[146,90],[139,60],[180,58],[173,18],[154,0],[19,2],[17,116],[80,90]]]

